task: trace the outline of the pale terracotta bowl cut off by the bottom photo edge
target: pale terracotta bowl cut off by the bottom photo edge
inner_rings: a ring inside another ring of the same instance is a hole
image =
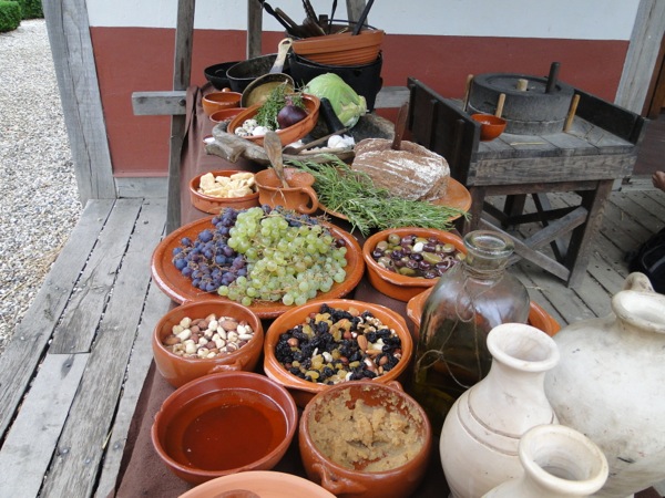
[[[335,498],[335,495],[304,477],[270,470],[250,470],[217,477],[181,495],[180,498]]]

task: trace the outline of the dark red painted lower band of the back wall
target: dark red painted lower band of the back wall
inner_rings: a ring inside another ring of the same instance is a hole
[[[115,176],[165,176],[168,116],[134,116],[131,96],[139,91],[173,87],[175,30],[91,29],[102,105]],[[274,53],[280,33],[266,33],[264,53]],[[206,83],[203,70],[245,58],[244,31],[197,30],[192,84]],[[494,72],[546,76],[561,63],[559,79],[614,101],[627,41],[523,38],[420,37],[388,34],[383,41],[385,86],[417,77],[448,97],[461,97],[468,74]]]

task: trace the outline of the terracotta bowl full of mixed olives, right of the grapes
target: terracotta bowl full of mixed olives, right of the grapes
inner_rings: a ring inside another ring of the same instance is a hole
[[[362,245],[372,287],[405,302],[433,287],[466,253],[461,237],[419,227],[381,230]]]

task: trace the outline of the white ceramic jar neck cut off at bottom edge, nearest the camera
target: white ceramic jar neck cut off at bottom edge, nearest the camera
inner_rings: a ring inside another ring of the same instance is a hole
[[[564,425],[538,425],[520,439],[524,474],[483,498],[584,498],[603,487],[607,460],[586,436]]]

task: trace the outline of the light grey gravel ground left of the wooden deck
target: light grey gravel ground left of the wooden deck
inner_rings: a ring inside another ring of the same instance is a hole
[[[43,19],[0,33],[0,354],[79,220]]]

